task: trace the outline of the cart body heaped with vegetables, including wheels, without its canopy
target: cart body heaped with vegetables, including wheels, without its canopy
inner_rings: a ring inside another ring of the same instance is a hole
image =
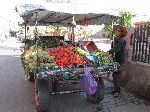
[[[58,42],[57,45],[47,44],[47,42],[50,43],[51,41],[54,43],[55,39]],[[89,68],[97,82],[96,92],[92,95],[87,94],[87,99],[91,103],[100,102],[104,98],[102,75],[118,69],[117,63],[100,64],[98,62],[99,59],[96,58],[102,52],[84,53],[85,51],[79,47],[74,47],[73,44],[66,44],[63,37],[60,36],[39,36],[36,48],[38,48],[37,54],[33,55],[33,60],[32,56],[30,57],[31,63],[29,62],[29,65],[32,64],[32,69],[27,75],[29,75],[28,80],[35,83],[35,105],[39,112],[48,111],[49,102],[51,101],[50,95],[83,91],[80,88],[80,82],[84,76],[84,65]],[[79,55],[82,54],[84,55],[80,58]],[[65,57],[67,57],[67,60],[65,60]],[[73,57],[77,57],[77,59]],[[102,56],[100,57],[102,58]],[[56,63],[54,63],[54,60]],[[60,89],[62,86],[73,88],[63,90]]]

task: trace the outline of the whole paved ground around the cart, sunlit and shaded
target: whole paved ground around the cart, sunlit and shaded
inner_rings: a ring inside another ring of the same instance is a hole
[[[113,98],[111,90],[112,84],[105,81],[105,97],[99,104],[90,104],[83,93],[52,96],[50,110],[51,112],[150,112],[149,102],[125,90],[122,90],[119,98]],[[0,48],[0,112],[35,112],[32,91],[33,84],[24,80],[20,52]]]

